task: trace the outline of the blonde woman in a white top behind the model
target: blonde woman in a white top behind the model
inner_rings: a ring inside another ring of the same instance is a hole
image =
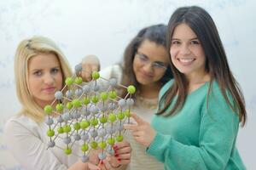
[[[32,37],[20,42],[15,54],[15,82],[22,109],[6,123],[4,135],[9,150],[25,169],[101,169],[79,161],[77,156],[65,156],[57,147],[47,150],[49,127],[44,123],[43,108],[51,104],[55,92],[70,76],[67,59],[49,38]],[[59,140],[55,143],[61,145]],[[73,152],[78,151],[74,145]]]

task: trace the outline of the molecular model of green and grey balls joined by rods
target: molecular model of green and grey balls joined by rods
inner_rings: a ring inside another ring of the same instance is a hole
[[[56,146],[84,162],[89,161],[90,150],[100,150],[98,158],[102,162],[108,154],[113,155],[113,145],[123,140],[123,125],[130,123],[134,105],[131,95],[136,88],[122,86],[114,78],[100,77],[97,71],[92,73],[91,82],[83,82],[77,76],[82,66],[76,65],[75,71],[73,77],[67,77],[64,88],[55,93],[52,104],[44,107],[49,125],[48,148]],[[107,81],[108,88],[106,83],[105,89],[101,87],[99,81]],[[117,95],[117,87],[127,89],[125,99]],[[65,147],[58,146],[55,139],[61,139]],[[79,153],[73,153],[74,144],[79,144]]]

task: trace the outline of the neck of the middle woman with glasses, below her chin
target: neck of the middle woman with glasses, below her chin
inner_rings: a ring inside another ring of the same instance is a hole
[[[154,99],[158,97],[161,84],[160,82],[149,84],[149,85],[141,84],[139,88],[140,88],[140,93],[139,93],[140,96],[142,96],[143,98]]]

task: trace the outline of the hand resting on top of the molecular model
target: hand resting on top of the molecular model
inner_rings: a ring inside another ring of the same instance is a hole
[[[82,72],[81,72],[81,77],[85,82],[90,82],[91,81],[91,73],[93,71],[100,71],[101,64],[100,60],[97,58],[96,55],[90,54],[86,55],[82,59]]]

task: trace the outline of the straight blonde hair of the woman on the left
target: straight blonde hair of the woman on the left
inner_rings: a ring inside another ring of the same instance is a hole
[[[27,86],[28,61],[37,54],[55,54],[59,59],[63,75],[63,85],[66,77],[72,76],[72,70],[67,59],[55,42],[47,37],[32,37],[20,42],[15,54],[15,82],[18,99],[22,105],[20,114],[29,116],[35,122],[44,121],[44,110],[32,98]],[[62,85],[62,86],[63,86]]]

